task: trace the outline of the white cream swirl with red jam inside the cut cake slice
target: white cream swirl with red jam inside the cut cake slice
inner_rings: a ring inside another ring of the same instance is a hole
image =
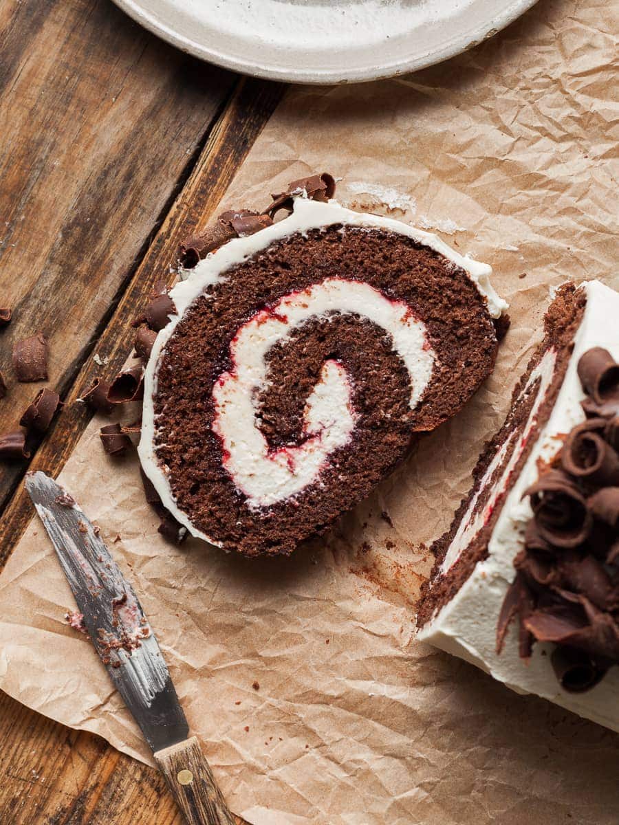
[[[260,310],[234,336],[229,351],[233,367],[213,388],[213,430],[220,437],[224,467],[249,507],[269,507],[315,483],[329,455],[352,438],[357,421],[352,377],[333,359],[325,361],[309,394],[299,444],[274,450],[258,427],[256,398],[267,383],[268,351],[310,318],[329,323],[332,314],[367,318],[390,335],[409,373],[411,409],[428,386],[437,356],[425,325],[408,304],[367,283],[327,278]]]

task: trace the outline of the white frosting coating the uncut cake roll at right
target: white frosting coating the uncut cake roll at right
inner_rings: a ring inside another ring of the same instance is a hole
[[[514,623],[503,652],[495,652],[496,626],[505,593],[513,582],[513,559],[522,549],[527,522],[532,517],[522,494],[538,476],[537,460],[550,460],[560,450],[566,432],[584,419],[580,403],[584,392],[576,372],[580,356],[591,347],[605,347],[619,360],[619,294],[599,281],[582,287],[587,306],[574,339],[559,397],[532,453],[513,484],[489,540],[488,558],[478,563],[456,596],[418,633],[418,638],[454,653],[489,672],[513,690],[535,693],[607,728],[619,731],[619,667],[586,693],[562,691],[550,665],[551,645],[536,644],[531,662],[518,656]]]

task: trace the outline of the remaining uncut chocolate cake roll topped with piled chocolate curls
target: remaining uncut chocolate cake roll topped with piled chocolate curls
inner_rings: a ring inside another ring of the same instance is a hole
[[[619,730],[619,294],[562,287],[418,606],[418,638]]]

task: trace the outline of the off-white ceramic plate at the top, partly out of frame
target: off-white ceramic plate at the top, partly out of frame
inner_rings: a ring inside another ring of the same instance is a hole
[[[536,0],[115,0],[196,57],[262,78],[374,80],[438,63]]]

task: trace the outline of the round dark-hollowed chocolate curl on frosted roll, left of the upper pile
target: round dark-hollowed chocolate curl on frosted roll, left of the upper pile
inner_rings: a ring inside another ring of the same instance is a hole
[[[593,526],[593,517],[578,488],[561,470],[550,470],[528,488],[537,530],[555,547],[578,547]]]

